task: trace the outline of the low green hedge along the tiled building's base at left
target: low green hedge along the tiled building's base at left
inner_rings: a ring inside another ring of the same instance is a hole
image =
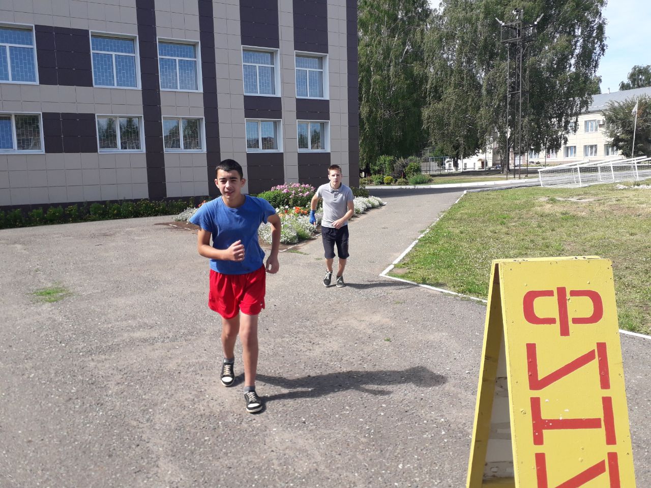
[[[194,207],[195,200],[138,200],[137,202],[96,202],[92,204],[68,205],[32,210],[0,210],[0,228],[27,227],[45,224],[130,219],[132,217],[156,217],[175,215]]]

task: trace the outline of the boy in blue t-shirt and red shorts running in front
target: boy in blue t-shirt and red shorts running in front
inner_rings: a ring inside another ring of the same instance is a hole
[[[281,219],[267,200],[242,194],[246,180],[237,161],[221,161],[215,176],[221,197],[203,204],[189,221],[201,227],[197,239],[199,254],[210,258],[208,306],[221,315],[221,384],[235,383],[233,365],[239,333],[246,409],[255,413],[262,410],[262,401],[255,392],[258,314],[264,308],[265,271],[277,273],[279,269]],[[266,266],[264,251],[258,243],[258,227],[263,222],[271,224],[271,253]]]

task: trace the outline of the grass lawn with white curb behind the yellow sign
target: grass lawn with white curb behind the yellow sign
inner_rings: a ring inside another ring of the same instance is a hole
[[[651,334],[650,189],[468,193],[391,274],[486,299],[493,259],[590,255],[613,261],[620,328]]]

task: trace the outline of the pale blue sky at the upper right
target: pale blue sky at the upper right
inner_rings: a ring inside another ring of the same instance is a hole
[[[430,0],[432,7],[438,0]],[[620,81],[635,64],[651,64],[651,49],[645,40],[651,25],[649,0],[609,0],[603,12],[606,25],[606,51],[597,74],[602,77],[602,93],[619,90]]]

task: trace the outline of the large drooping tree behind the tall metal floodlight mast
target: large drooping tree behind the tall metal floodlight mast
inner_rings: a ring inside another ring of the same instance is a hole
[[[605,50],[603,7],[605,0],[442,0],[426,39],[432,69],[424,121],[430,140],[461,156],[478,150],[495,131],[501,148],[507,134],[514,138],[506,128],[506,46],[495,18],[508,23],[522,9],[529,23],[544,14],[525,66],[525,146],[559,150],[594,92]]]

